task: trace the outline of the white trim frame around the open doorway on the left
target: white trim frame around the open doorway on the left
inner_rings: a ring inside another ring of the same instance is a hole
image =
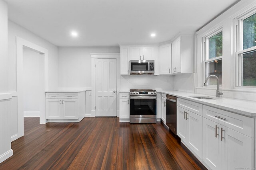
[[[43,47],[31,43],[25,39],[16,36],[16,92],[18,96],[18,138],[24,136],[24,108],[23,108],[23,46],[30,48],[43,55],[44,57],[44,89],[48,91],[48,50]],[[46,121],[46,101],[44,95],[40,112],[40,124]]]

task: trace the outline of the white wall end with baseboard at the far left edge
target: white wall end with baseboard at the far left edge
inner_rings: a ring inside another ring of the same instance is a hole
[[[7,3],[0,0],[0,163],[12,156],[10,98],[8,91],[8,18]]]

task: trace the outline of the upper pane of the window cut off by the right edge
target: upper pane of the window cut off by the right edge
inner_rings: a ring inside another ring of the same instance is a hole
[[[244,19],[243,49],[256,46],[256,14]]]

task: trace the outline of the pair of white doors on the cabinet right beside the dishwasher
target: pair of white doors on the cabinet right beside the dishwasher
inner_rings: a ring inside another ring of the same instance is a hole
[[[177,106],[177,135],[202,158],[202,116]]]

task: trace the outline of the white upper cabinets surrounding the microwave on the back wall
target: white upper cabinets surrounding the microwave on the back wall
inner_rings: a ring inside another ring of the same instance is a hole
[[[130,60],[154,60],[154,75],[159,75],[158,46],[120,46],[120,74],[130,75]]]

